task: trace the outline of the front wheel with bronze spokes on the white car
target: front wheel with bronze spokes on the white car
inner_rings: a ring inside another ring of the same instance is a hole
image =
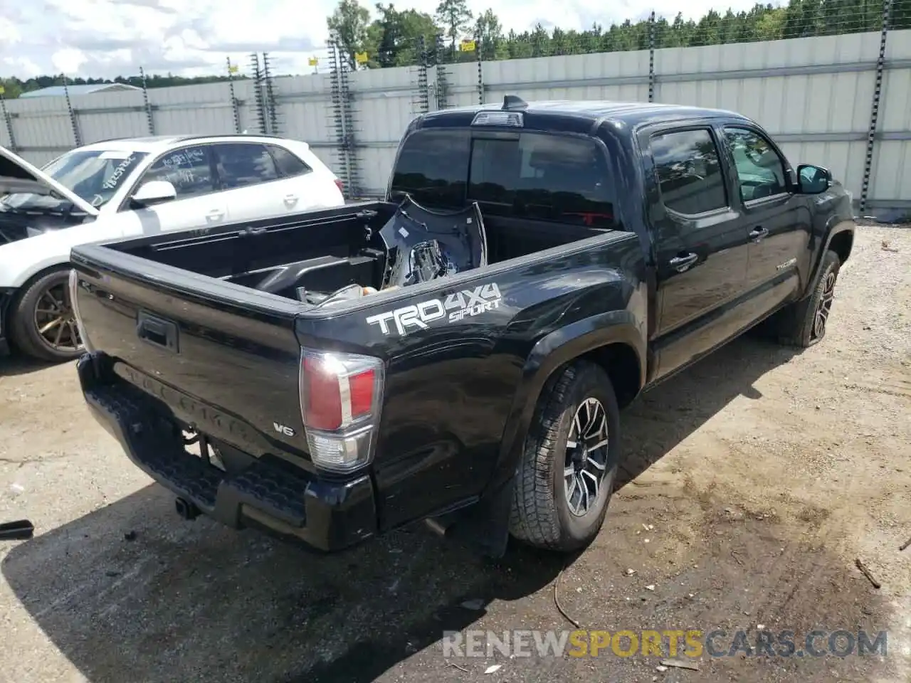
[[[69,301],[69,271],[68,267],[61,267],[32,282],[10,311],[10,333],[15,347],[39,361],[71,361],[83,351]],[[60,305],[55,307],[52,299]],[[52,312],[56,308],[58,315]],[[56,319],[59,322],[53,325]],[[56,345],[55,340],[59,342]]]

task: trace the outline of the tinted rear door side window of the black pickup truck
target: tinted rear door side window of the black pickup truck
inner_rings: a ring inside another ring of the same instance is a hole
[[[728,206],[718,148],[708,128],[651,138],[664,206],[688,216]]]

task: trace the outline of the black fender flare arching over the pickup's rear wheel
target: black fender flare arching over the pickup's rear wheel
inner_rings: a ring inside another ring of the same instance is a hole
[[[548,377],[560,366],[608,344],[623,343],[636,352],[640,387],[644,385],[646,341],[643,325],[630,311],[609,311],[572,322],[537,341],[522,368],[522,379],[503,430],[496,467],[487,484],[488,491],[496,490],[516,473],[537,399]]]

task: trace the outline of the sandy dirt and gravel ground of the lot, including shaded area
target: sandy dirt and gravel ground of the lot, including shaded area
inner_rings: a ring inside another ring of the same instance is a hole
[[[887,630],[885,657],[444,658],[444,630],[571,629],[563,562],[422,528],[316,558],[185,523],[72,366],[2,362],[0,397],[0,520],[37,527],[0,543],[0,680],[911,680],[911,229],[859,231],[821,345],[744,338],[624,413],[608,521],[558,583],[584,628]]]

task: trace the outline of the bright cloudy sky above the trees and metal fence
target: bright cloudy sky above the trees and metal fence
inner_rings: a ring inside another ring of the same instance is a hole
[[[635,21],[653,8],[698,18],[709,9],[747,9],[755,0],[468,0],[475,14],[488,7],[505,30],[540,23],[583,29],[598,22]],[[277,74],[311,72],[308,59],[325,56],[326,16],[337,0],[24,0],[5,2],[0,15],[0,76],[27,78],[148,74],[223,74],[226,58],[241,65],[251,52],[269,52]],[[438,0],[399,0],[396,8],[433,14]],[[373,3],[363,3],[373,7]]]

